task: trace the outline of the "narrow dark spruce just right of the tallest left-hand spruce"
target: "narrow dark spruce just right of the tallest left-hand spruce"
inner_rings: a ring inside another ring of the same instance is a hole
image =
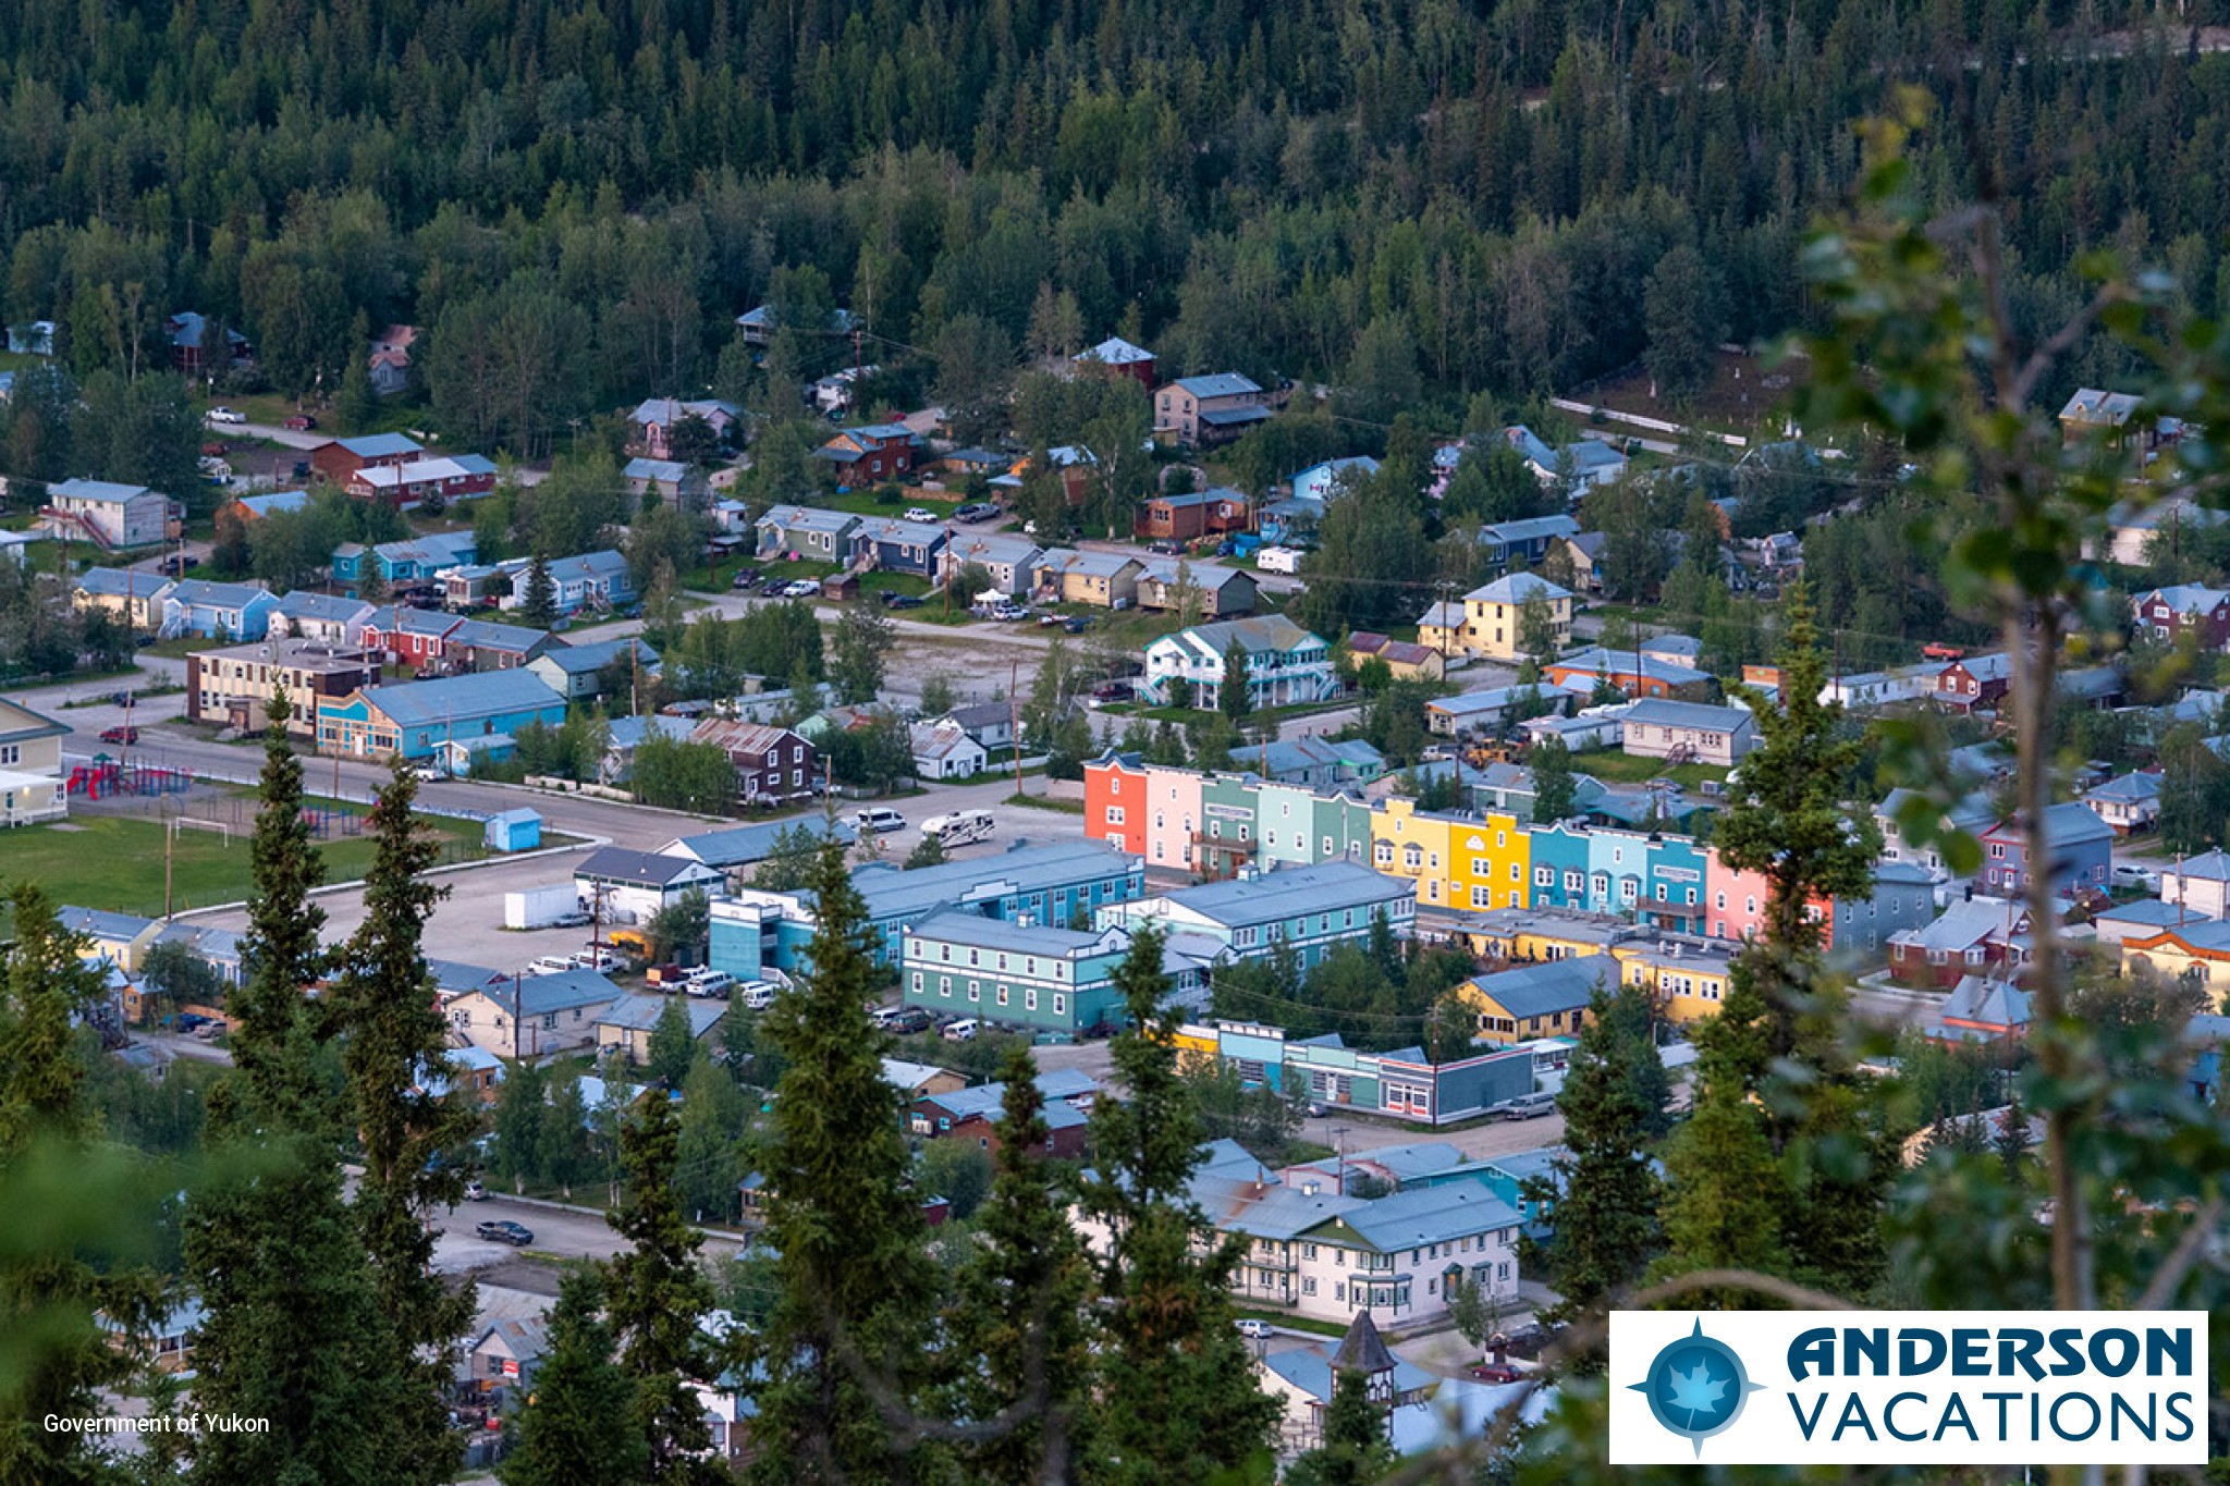
[[[415,800],[417,778],[397,760],[372,804],[363,925],[341,951],[334,1016],[346,1034],[343,1067],[363,1147],[357,1225],[392,1326],[395,1375],[406,1384],[388,1479],[446,1482],[459,1441],[442,1395],[453,1377],[453,1348],[473,1323],[475,1288],[471,1281],[450,1288],[435,1274],[426,1214],[464,1196],[464,1170],[435,1156],[464,1145],[475,1116],[424,1092],[448,1067],[448,1027],[424,954],[426,920],[446,889],[419,876],[439,860],[439,847],[413,818]]]

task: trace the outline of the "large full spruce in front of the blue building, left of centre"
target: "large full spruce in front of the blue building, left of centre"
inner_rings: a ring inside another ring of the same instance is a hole
[[[876,931],[841,844],[818,849],[809,887],[812,969],[760,1018],[787,1067],[763,1159],[780,1297],[756,1350],[765,1381],[752,1479],[867,1486],[912,1470],[885,1415],[912,1410],[925,1381],[934,1279],[919,1199],[903,1187],[885,1038],[865,1011],[883,985]]]

